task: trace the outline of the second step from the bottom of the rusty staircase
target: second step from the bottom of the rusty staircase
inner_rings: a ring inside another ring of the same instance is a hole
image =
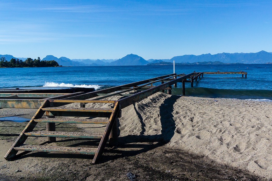
[[[50,136],[50,137],[65,137],[65,138],[89,138],[101,139],[103,133],[86,133],[86,132],[63,132],[63,131],[31,131],[24,133],[27,136]]]

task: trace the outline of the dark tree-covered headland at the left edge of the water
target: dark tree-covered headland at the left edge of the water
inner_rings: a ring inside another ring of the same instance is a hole
[[[54,60],[50,61],[41,61],[38,59],[27,58],[25,61],[19,60],[18,58],[12,58],[10,61],[7,61],[5,57],[0,58],[0,67],[56,67],[58,62]]]

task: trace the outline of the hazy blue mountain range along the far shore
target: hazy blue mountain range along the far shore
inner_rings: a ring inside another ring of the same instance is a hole
[[[15,58],[12,55],[0,55],[8,61]],[[25,60],[26,58],[18,58]],[[217,53],[215,55],[182,55],[174,56],[171,59],[149,59],[134,54],[126,55],[120,59],[69,59],[67,57],[57,58],[47,55],[42,60],[55,60],[62,66],[119,66],[119,65],[171,65],[173,60],[180,64],[229,64],[229,63],[268,63],[272,62],[272,52],[260,51],[257,53]],[[168,63],[167,63],[168,62]]]

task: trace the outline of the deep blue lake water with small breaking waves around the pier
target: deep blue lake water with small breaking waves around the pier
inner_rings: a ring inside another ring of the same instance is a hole
[[[176,73],[245,71],[240,74],[204,75],[194,82],[186,82],[187,96],[224,97],[237,99],[272,100],[272,64],[242,65],[176,65]],[[1,68],[0,88],[75,86],[102,89],[127,84],[160,75],[171,74],[172,66],[84,66],[46,68]],[[63,83],[63,84],[61,84]],[[173,90],[181,94],[181,83]]]

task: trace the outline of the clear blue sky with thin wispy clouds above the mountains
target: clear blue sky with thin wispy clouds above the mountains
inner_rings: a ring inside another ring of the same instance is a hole
[[[0,54],[144,59],[272,51],[271,1],[0,1]]]

